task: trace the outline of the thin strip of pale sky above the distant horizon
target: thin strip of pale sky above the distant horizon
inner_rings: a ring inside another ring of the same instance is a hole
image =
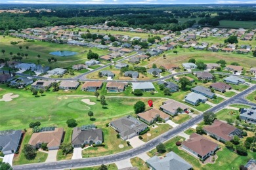
[[[0,0],[0,3],[15,4],[256,4],[256,1],[239,0]]]

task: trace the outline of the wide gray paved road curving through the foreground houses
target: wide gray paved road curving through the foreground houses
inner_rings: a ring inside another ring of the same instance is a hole
[[[247,90],[244,90],[244,92],[238,93],[237,95],[230,97],[230,99],[223,101],[219,105],[212,107],[207,111],[218,112],[219,110],[223,109],[228,105],[236,104],[236,103],[245,103],[245,99],[244,99],[245,95],[255,90],[256,90],[256,85],[251,86]],[[16,165],[13,167],[13,169],[68,169],[68,168],[74,168],[74,167],[95,166],[95,165],[100,165],[102,163],[104,164],[114,163],[115,161],[133,158],[135,156],[138,156],[139,154],[148,152],[149,150],[152,150],[152,148],[156,147],[157,144],[163,143],[171,139],[172,137],[175,137],[175,135],[181,133],[185,129],[188,129],[189,127],[194,126],[195,124],[198,124],[202,120],[203,120],[203,114],[199,114],[198,116],[191,118],[190,120],[184,122],[183,124],[180,124],[179,126],[173,129],[170,129],[169,131],[163,133],[162,135],[156,137],[155,139],[148,141],[148,143],[143,144],[142,146],[139,146],[138,148],[133,148],[131,150],[120,152],[118,154],[112,154],[109,156],[100,156],[95,158],[85,158],[80,160],[56,161],[53,163],[33,163],[28,165]]]

